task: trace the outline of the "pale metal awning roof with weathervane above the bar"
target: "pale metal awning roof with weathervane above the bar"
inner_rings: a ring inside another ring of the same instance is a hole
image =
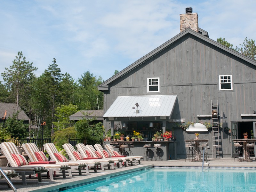
[[[177,95],[120,96],[103,117],[169,117],[176,100]]]

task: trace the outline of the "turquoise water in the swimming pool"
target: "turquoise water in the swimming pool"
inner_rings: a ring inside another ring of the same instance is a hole
[[[202,172],[202,170],[150,169],[66,191],[255,192],[256,172],[252,170],[204,170]]]

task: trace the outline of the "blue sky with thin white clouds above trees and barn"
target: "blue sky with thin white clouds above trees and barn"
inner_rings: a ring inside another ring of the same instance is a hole
[[[1,72],[22,51],[36,76],[55,58],[63,74],[107,80],[179,34],[186,7],[215,41],[256,39],[255,0],[0,0]]]

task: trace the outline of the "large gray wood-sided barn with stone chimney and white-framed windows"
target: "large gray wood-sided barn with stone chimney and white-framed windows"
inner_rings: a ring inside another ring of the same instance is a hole
[[[184,131],[175,122],[212,123],[217,106],[217,119],[223,124],[218,129],[218,153],[230,157],[232,139],[242,138],[244,132],[248,138],[256,136],[256,61],[210,39],[198,28],[197,18],[197,13],[180,14],[178,35],[100,84],[104,125],[111,124],[113,130],[115,122],[121,122],[126,134],[137,130],[148,139],[156,130],[172,130],[178,158],[185,157],[184,140],[199,132],[199,137],[209,139],[211,155],[215,153],[212,129]],[[162,96],[172,96],[174,105]],[[226,118],[221,118],[223,114]]]

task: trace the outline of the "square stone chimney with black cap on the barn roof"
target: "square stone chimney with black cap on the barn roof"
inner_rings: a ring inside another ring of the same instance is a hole
[[[187,28],[198,32],[198,15],[192,13],[192,7],[186,8],[186,14],[180,14],[180,32]]]

